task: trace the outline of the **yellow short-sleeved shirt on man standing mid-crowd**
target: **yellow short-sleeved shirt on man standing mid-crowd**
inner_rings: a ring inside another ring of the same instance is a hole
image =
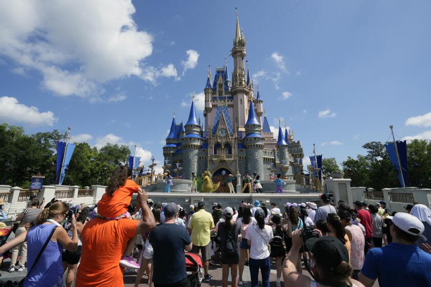
[[[201,209],[191,216],[189,229],[191,229],[191,242],[193,245],[206,246],[210,241],[211,229],[214,229],[214,221],[209,212]]]

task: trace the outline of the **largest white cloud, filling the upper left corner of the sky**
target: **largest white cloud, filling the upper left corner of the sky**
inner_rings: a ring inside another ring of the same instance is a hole
[[[153,38],[134,13],[130,0],[0,2],[0,54],[56,94],[92,97],[100,83],[143,74]]]

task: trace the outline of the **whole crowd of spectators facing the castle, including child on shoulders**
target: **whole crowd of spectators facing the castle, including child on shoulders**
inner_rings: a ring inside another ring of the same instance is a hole
[[[9,271],[27,261],[23,286],[122,286],[128,268],[137,271],[135,286],[146,274],[149,286],[181,287],[190,286],[190,252],[201,256],[203,282],[212,280],[209,264],[221,265],[223,287],[229,273],[232,287],[243,285],[246,267],[252,287],[269,287],[271,265],[276,286],[282,278],[285,286],[431,286],[431,210],[423,204],[396,213],[384,201],[350,206],[324,193],[319,207],[199,201],[186,210],[148,199],[130,175],[115,169],[95,207],[31,200],[15,238],[0,247],[12,250]]]

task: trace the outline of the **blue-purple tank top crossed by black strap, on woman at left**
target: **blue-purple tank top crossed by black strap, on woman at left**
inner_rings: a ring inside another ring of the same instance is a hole
[[[37,254],[39,254],[55,224],[39,224],[32,227],[27,233],[27,268],[33,266]],[[60,227],[59,227],[60,228]],[[36,265],[28,274],[24,287],[36,286],[64,286],[63,280],[63,247],[60,242],[50,240]]]

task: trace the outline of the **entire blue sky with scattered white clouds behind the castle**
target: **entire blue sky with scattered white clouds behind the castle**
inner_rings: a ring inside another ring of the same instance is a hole
[[[270,125],[285,118],[306,156],[341,163],[390,124],[431,139],[430,2],[217,3],[0,4],[0,122],[160,162],[173,109],[187,120],[208,65],[231,72],[238,7]]]

